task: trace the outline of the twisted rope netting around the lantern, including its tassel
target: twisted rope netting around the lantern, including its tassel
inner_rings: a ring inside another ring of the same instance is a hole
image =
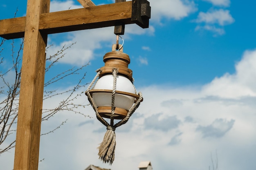
[[[119,121],[117,124],[114,125],[114,115],[115,115],[115,93],[116,93],[116,85],[117,85],[117,68],[113,68],[113,90],[112,90],[112,100],[111,100],[111,116],[110,116],[110,124],[99,115],[99,111],[97,109],[96,104],[94,103],[92,96],[90,95],[89,91],[92,88],[93,84],[97,82],[99,78],[99,74],[101,73],[101,69],[97,70],[97,75],[92,80],[91,84],[88,86],[87,91],[85,92],[88,96],[88,100],[94,109],[97,119],[101,121],[107,127],[107,132],[104,135],[103,141],[101,142],[99,149],[99,159],[101,159],[104,163],[109,163],[110,165],[115,160],[115,148],[116,148],[116,134],[115,129],[123,124],[126,124],[130,116],[135,112],[135,110],[139,107],[140,102],[142,102],[142,93],[139,92],[139,99],[133,104],[130,110],[127,113],[127,116]],[[133,83],[132,83],[133,84]],[[94,86],[93,86],[94,87]],[[135,90],[135,93],[136,90]]]

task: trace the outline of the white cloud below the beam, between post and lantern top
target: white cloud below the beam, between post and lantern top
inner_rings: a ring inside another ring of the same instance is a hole
[[[47,50],[47,55],[53,55],[64,45],[67,47],[76,42],[72,48],[65,51],[66,56],[63,57],[59,62],[78,66],[87,64],[90,60],[92,60],[95,57],[94,50],[101,49],[103,42],[107,42],[110,50],[112,49],[112,44],[115,42],[115,35],[113,34],[112,27],[75,31],[72,33],[63,33],[63,35],[66,35],[67,39],[69,40],[50,47]],[[48,44],[52,43],[54,42],[49,41]]]

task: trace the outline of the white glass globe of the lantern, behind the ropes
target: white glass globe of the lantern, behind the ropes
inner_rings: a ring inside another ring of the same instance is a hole
[[[104,75],[94,86],[94,90],[113,90],[113,78],[111,75]],[[117,91],[123,91],[135,94],[135,88],[130,80],[122,75],[117,75]],[[92,98],[97,107],[111,106],[112,93],[93,93]],[[134,97],[128,95],[115,94],[115,107],[129,110],[135,101]]]

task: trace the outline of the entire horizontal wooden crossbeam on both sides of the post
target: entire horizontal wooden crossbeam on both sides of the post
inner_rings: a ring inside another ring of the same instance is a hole
[[[137,23],[131,20],[132,1],[40,14],[39,30],[47,34]],[[0,20],[0,37],[22,38],[25,18]],[[138,24],[138,23],[137,23]]]

